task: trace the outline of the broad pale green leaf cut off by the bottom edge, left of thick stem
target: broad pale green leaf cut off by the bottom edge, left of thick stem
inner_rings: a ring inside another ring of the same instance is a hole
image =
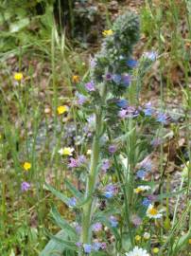
[[[43,251],[40,253],[40,256],[58,256],[63,255],[63,252],[67,249],[64,243],[61,241],[58,242],[56,239],[64,239],[66,238],[66,233],[64,230],[59,231],[54,238],[52,238],[48,244],[43,248]],[[75,256],[75,252],[70,250],[70,254]]]

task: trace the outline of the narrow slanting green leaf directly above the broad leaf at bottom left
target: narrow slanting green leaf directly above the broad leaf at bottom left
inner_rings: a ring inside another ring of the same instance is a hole
[[[65,221],[60,212],[56,209],[56,207],[53,207],[51,210],[51,214],[54,218],[54,220],[56,221],[57,225],[66,231],[66,233],[71,237],[71,238],[76,238],[77,237],[77,233],[76,230],[74,228],[72,228],[70,226],[70,224],[68,224],[67,221]]]

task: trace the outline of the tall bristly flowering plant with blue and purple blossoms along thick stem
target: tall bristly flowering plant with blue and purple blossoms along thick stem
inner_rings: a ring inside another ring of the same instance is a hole
[[[76,220],[67,222],[53,208],[61,231],[50,235],[52,240],[42,256],[54,250],[67,255],[110,256],[125,255],[133,248],[144,252],[135,247],[140,240],[139,227],[144,223],[141,229],[146,230],[147,238],[143,244],[148,247],[152,229],[148,219],[157,220],[163,214],[153,204],[152,182],[146,181],[151,171],[146,156],[154,143],[153,134],[145,134],[149,122],[165,124],[166,117],[150,103],[142,107],[139,104],[141,80],[156,54],[145,53],[139,62],[131,57],[139,40],[139,19],[134,13],[119,16],[103,36],[101,49],[90,62],[89,80],[77,84],[74,112],[82,123],[83,154],[77,155],[71,148],[60,150],[61,155],[68,155],[68,168],[78,176],[80,188],[65,179],[67,191],[72,194],[68,197],[46,184],[75,212]],[[92,145],[86,156],[85,144]]]

